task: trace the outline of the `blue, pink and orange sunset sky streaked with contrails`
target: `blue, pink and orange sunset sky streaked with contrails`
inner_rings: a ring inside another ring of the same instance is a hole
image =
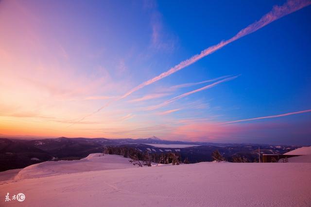
[[[311,144],[311,0],[1,0],[0,134]]]

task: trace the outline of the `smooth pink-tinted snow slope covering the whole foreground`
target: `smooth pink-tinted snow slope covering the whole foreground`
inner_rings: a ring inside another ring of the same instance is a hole
[[[1,207],[311,204],[311,163],[201,162],[137,168],[121,156],[91,154],[78,161],[36,164],[17,173],[15,180],[0,182]],[[22,192],[26,199],[4,202],[8,192],[10,196]]]

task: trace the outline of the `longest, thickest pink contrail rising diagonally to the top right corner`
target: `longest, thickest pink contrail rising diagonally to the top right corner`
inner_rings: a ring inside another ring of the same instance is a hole
[[[161,79],[163,79],[163,78],[165,78],[165,77],[189,66],[190,64],[197,62],[198,60],[206,57],[207,55],[215,52],[216,50],[223,48],[224,46],[228,45],[229,43],[234,42],[234,41],[240,39],[241,37],[243,37],[245,35],[256,32],[257,30],[259,30],[262,27],[270,24],[271,22],[273,22],[273,21],[275,21],[275,20],[277,20],[283,16],[289,15],[289,14],[291,14],[297,10],[300,10],[306,6],[309,6],[310,4],[311,4],[311,0],[288,0],[286,3],[284,3],[281,6],[277,6],[277,5],[274,6],[269,13],[262,16],[258,21],[248,25],[246,28],[242,29],[240,32],[238,32],[236,35],[234,35],[230,39],[221,41],[220,43],[213,45],[213,46],[201,51],[200,54],[194,55],[191,58],[175,65],[174,67],[172,67],[168,71],[161,73],[160,75],[156,76],[155,78],[141,83],[140,85],[136,86],[135,88],[133,88],[132,90],[130,90],[129,92],[124,94],[123,96],[119,97],[116,100],[109,101],[104,106],[99,108],[97,111],[94,111],[93,113],[91,113],[89,115],[86,115],[85,117],[83,117],[79,121],[82,121],[86,117],[89,117],[89,116],[93,115],[94,113],[101,111],[105,107],[109,106],[112,102],[119,101],[119,100],[133,94],[134,92],[138,91],[139,89],[141,89],[147,85],[150,85],[150,84],[152,84],[158,80],[161,80]]]

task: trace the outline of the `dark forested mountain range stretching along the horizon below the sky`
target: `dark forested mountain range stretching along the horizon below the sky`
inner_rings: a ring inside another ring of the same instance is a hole
[[[21,140],[0,138],[0,171],[24,168],[48,160],[81,159],[91,153],[103,152],[106,146],[126,146],[140,151],[147,150],[149,153],[179,152],[182,159],[188,158],[190,162],[211,161],[211,153],[215,150],[219,150],[229,161],[233,156],[244,157],[249,161],[258,157],[258,144],[169,141],[155,136],[143,139],[59,137]],[[297,147],[260,144],[261,153],[266,154],[283,154],[295,148]]]

